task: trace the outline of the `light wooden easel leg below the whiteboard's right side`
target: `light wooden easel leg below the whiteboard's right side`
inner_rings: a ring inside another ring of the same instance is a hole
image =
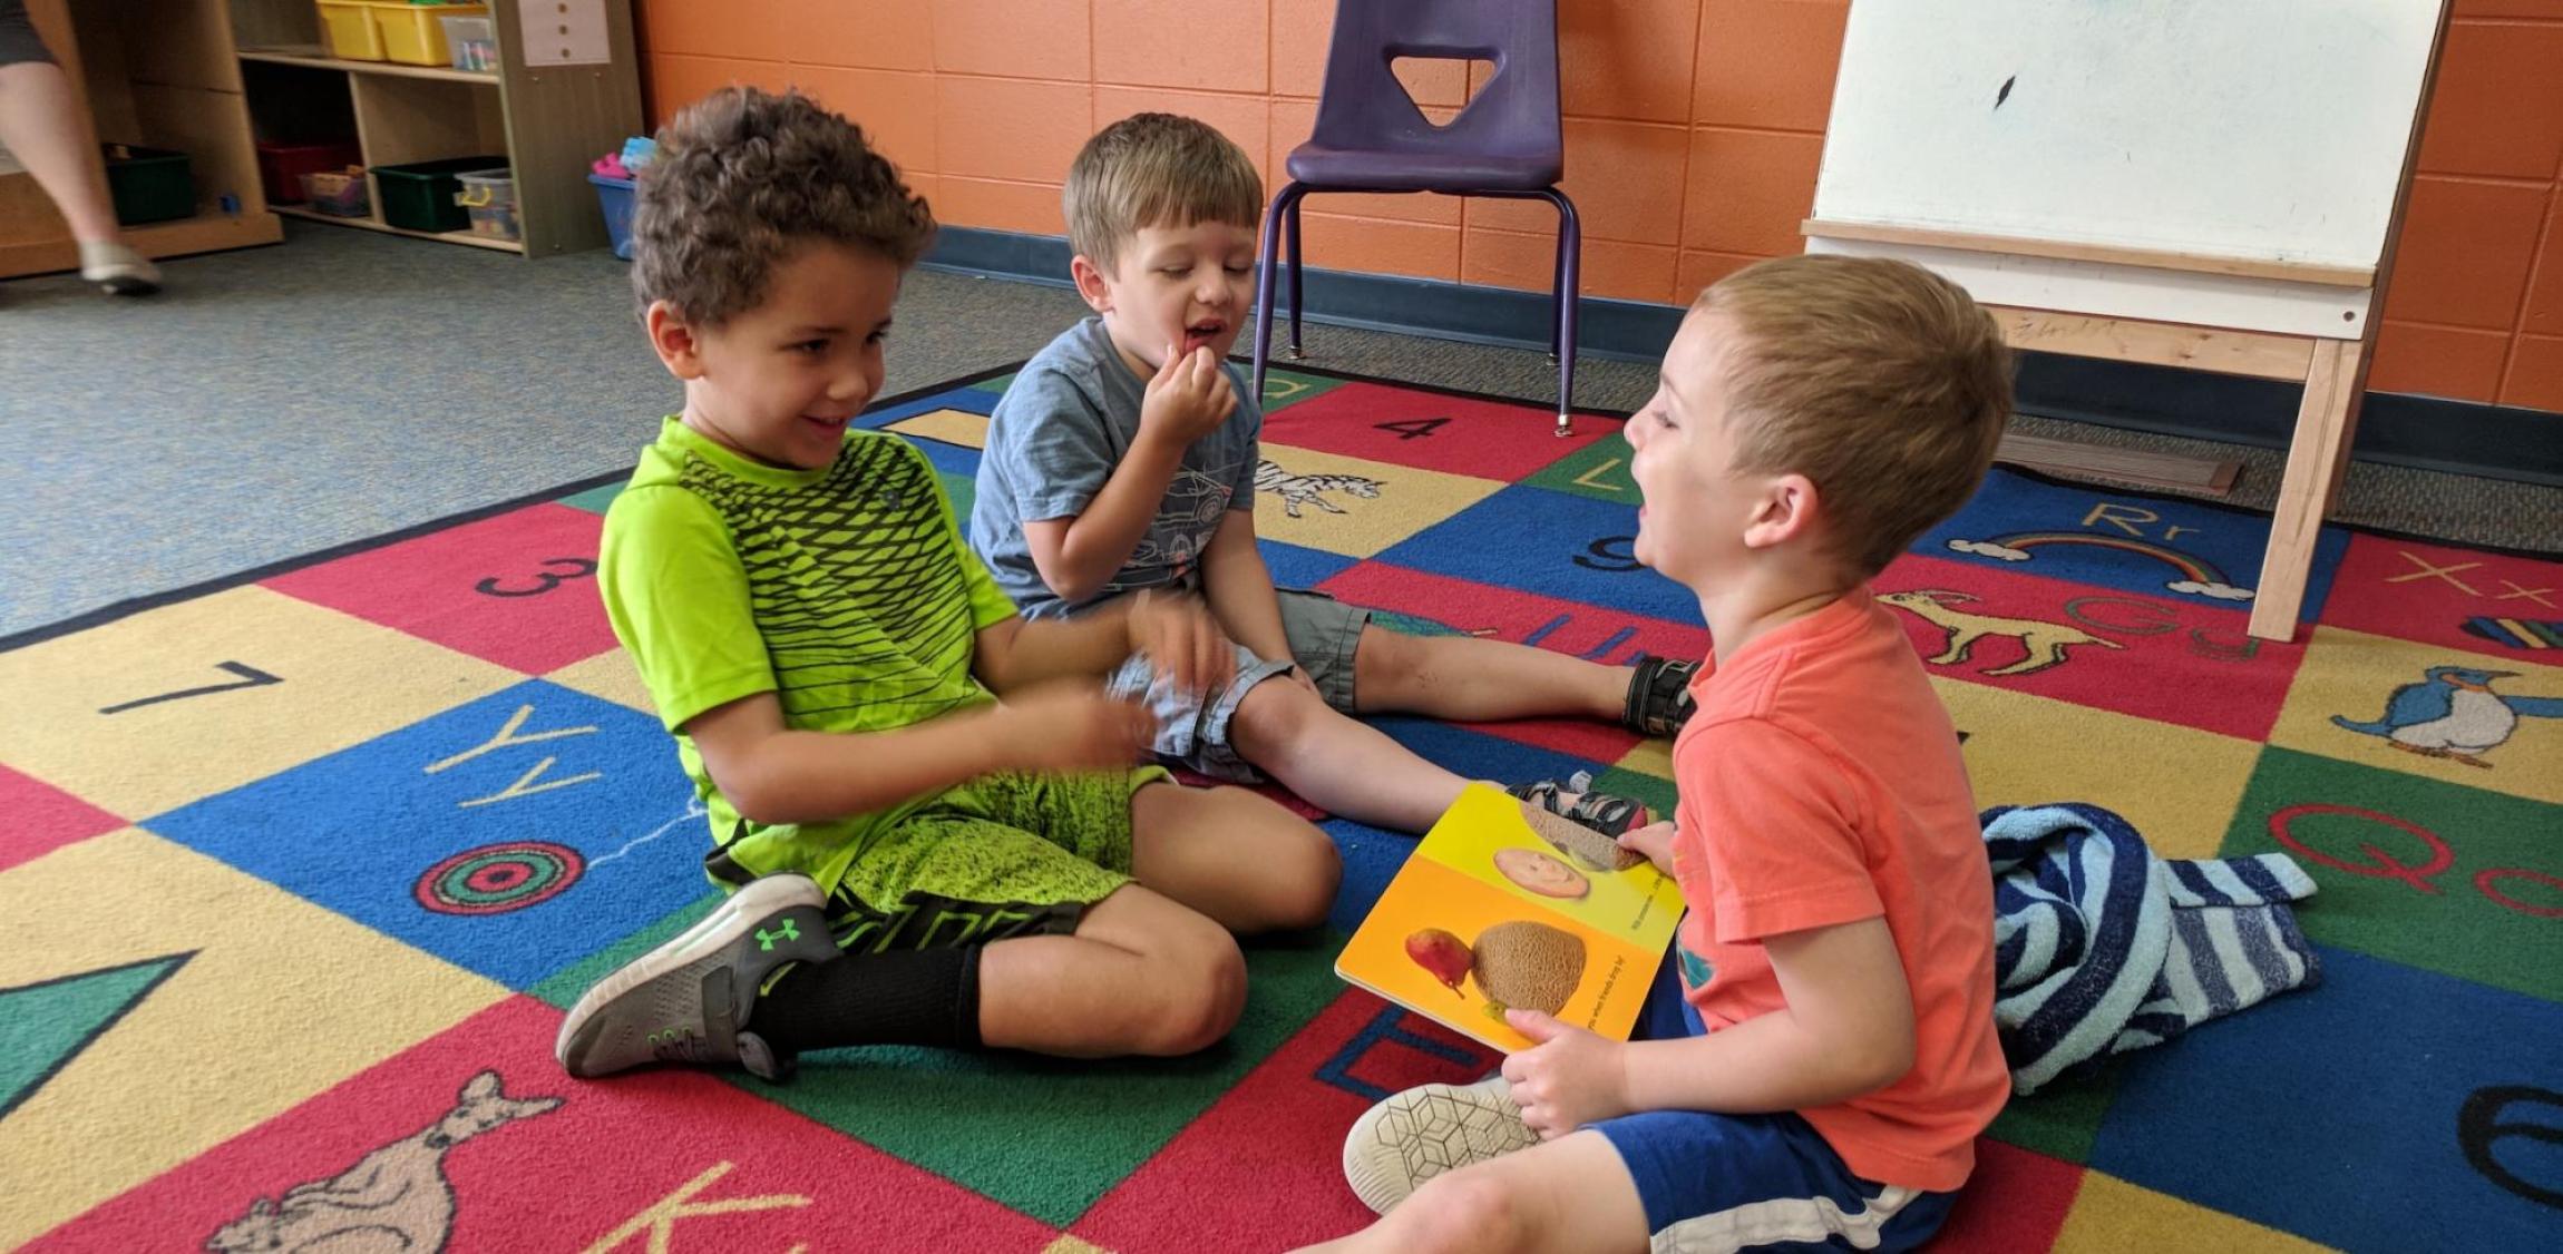
[[[2250,609],[2250,635],[2261,640],[2296,637],[2314,543],[2358,435],[2363,358],[2361,340],[2317,340],[2314,361],[2307,363],[2304,404],[2296,407],[2296,438],[2286,448],[2286,479],[2279,484],[2279,512],[2268,522],[2268,553],[2261,558],[2261,589]]]

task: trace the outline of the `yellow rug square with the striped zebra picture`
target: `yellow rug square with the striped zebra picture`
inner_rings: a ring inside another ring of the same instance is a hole
[[[1256,535],[1369,558],[1502,489],[1494,479],[1264,445]]]

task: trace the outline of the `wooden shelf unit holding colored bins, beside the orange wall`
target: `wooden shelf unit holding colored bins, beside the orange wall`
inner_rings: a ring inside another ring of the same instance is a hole
[[[213,0],[220,3],[220,0]],[[400,61],[349,61],[320,44],[320,18],[310,0],[228,0],[243,67],[287,67],[343,82],[367,166],[397,166],[446,156],[505,154],[515,177],[520,243],[464,230],[402,230],[382,223],[382,187],[372,187],[374,218],[331,218],[284,207],[292,218],[354,225],[523,256],[559,256],[605,248],[605,215],[587,184],[597,154],[620,151],[641,133],[641,77],[633,51],[630,0],[602,0],[607,54],[602,64],[528,67],[520,3],[490,0],[490,26],[500,67],[469,72]],[[290,118],[295,90],[274,74],[249,74],[249,113]],[[295,136],[308,138],[308,136]]]

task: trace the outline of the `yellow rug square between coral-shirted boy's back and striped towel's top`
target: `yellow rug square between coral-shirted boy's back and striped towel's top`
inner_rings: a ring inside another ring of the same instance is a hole
[[[2261,745],[1986,683],[1933,678],[1966,734],[1976,809],[2086,801],[2163,857],[2214,857]]]

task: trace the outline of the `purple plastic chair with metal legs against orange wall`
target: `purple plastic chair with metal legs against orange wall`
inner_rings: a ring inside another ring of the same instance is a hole
[[[1451,120],[1433,125],[1389,69],[1397,56],[1494,61],[1494,77]],[[1289,351],[1299,348],[1299,200],[1310,192],[1440,192],[1545,200],[1558,207],[1548,356],[1558,363],[1558,435],[1576,386],[1576,261],[1584,230],[1558,192],[1556,0],[1335,0],[1317,131],[1292,148],[1289,184],[1264,215],[1256,271],[1256,394],[1271,358],[1274,248],[1289,251]],[[1287,243],[1282,243],[1287,241]]]

